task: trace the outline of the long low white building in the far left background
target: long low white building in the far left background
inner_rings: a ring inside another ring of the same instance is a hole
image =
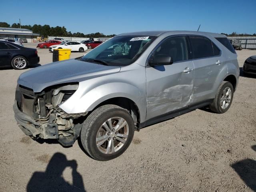
[[[25,38],[28,43],[33,42],[33,38],[39,36],[37,33],[33,33],[32,30],[19,29],[19,28],[5,28],[0,27],[0,38],[14,38],[15,40],[20,40],[20,38]]]

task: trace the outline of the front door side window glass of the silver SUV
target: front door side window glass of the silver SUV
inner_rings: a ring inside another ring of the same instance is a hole
[[[154,52],[154,56],[171,56],[173,62],[188,60],[188,49],[184,36],[171,37],[165,40]]]

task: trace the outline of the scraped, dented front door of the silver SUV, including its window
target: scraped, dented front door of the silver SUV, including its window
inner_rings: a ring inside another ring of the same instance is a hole
[[[152,56],[171,56],[173,64],[146,68],[146,120],[190,104],[193,91],[194,65],[188,60],[185,36],[164,40]]]

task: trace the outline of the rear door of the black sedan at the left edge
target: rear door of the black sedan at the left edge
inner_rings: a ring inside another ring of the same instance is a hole
[[[7,67],[11,65],[12,50],[8,44],[0,42],[0,67]]]

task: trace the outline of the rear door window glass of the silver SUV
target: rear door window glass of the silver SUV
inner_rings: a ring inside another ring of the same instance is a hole
[[[200,36],[190,36],[189,38],[192,44],[193,59],[214,56],[212,42],[208,38]]]

